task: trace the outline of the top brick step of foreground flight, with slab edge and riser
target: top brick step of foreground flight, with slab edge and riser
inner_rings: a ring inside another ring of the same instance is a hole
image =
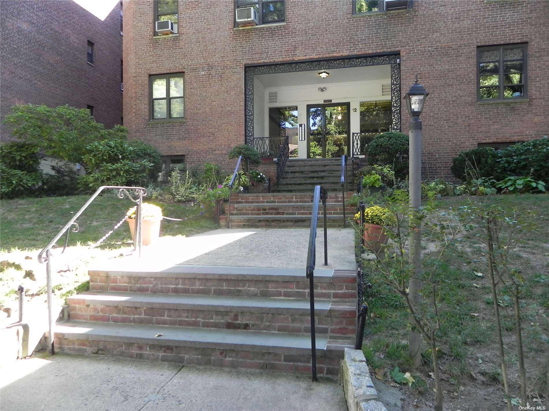
[[[232,221],[231,217],[231,225]],[[208,265],[177,265],[161,272],[89,270],[89,290],[309,298],[309,279],[304,271]],[[356,298],[356,272],[315,270],[315,300],[352,298]]]

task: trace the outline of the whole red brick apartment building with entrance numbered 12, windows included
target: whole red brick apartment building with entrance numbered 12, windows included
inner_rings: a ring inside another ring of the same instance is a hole
[[[228,170],[234,145],[276,157],[283,135],[294,157],[362,156],[371,135],[407,133],[416,74],[423,178],[449,177],[462,150],[549,134],[549,2],[245,3],[124,3],[125,125],[166,162]]]

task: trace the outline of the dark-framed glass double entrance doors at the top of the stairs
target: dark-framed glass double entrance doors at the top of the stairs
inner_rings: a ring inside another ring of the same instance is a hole
[[[307,158],[349,155],[349,103],[307,105]]]

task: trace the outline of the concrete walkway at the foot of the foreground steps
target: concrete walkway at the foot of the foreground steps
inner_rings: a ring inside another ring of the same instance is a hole
[[[49,356],[2,364],[2,410],[346,411],[337,381],[182,367],[105,356]]]

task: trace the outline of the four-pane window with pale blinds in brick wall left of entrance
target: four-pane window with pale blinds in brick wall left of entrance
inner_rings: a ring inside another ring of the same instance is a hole
[[[183,118],[183,73],[150,77],[150,118]]]

